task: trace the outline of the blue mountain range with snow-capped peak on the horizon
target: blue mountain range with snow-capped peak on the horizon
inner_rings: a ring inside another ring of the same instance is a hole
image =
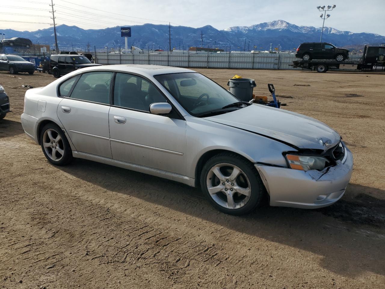
[[[129,26],[129,25],[128,25]],[[105,29],[81,29],[77,26],[59,25],[56,28],[59,48],[84,49],[87,44],[90,50],[105,49],[105,47],[124,46],[124,39],[121,37],[120,26]],[[218,30],[211,25],[200,28],[186,26],[171,27],[171,47],[176,49],[187,49],[188,46],[201,47],[201,33],[203,34],[203,47],[215,47],[229,50],[268,50],[270,44],[273,47],[280,45],[280,50],[292,50],[298,47],[301,42],[317,42],[320,40],[321,28],[312,26],[297,26],[284,20],[264,22],[251,26],[234,26]],[[54,29],[39,29],[36,31],[17,31],[3,29],[5,37],[25,37],[33,43],[50,44],[54,47]],[[169,26],[143,24],[131,26],[129,45],[140,48],[168,49]],[[331,42],[339,47],[357,47],[363,44],[385,43],[385,36],[373,33],[353,33],[341,31],[332,27],[325,27],[323,41]],[[356,46],[355,46],[356,45]]]

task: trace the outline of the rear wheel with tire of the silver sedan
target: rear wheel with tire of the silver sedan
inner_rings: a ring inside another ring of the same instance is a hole
[[[67,137],[59,126],[46,124],[40,133],[40,146],[50,163],[64,166],[72,161],[72,150]]]

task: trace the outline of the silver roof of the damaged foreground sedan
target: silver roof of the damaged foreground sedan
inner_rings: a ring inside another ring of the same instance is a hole
[[[191,69],[161,65],[148,64],[114,64],[104,66],[93,66],[82,68],[82,71],[121,71],[141,74],[143,76],[152,77],[158,74],[182,73],[182,72],[196,72]]]

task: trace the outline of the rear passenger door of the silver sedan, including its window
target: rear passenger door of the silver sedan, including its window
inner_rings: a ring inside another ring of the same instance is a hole
[[[57,116],[77,151],[112,157],[108,125],[112,74],[86,72],[79,81],[76,82],[75,76],[59,87],[64,98],[57,108]]]

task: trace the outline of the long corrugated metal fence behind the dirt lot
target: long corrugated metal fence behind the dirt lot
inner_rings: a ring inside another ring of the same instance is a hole
[[[356,60],[356,57],[351,59]],[[359,57],[357,57],[357,60]],[[115,54],[100,53],[95,55],[95,62],[99,64],[155,64],[177,67],[200,68],[244,68],[244,69],[300,69],[289,66],[298,60],[294,54],[266,53],[266,54],[183,54],[172,52],[167,54]]]

